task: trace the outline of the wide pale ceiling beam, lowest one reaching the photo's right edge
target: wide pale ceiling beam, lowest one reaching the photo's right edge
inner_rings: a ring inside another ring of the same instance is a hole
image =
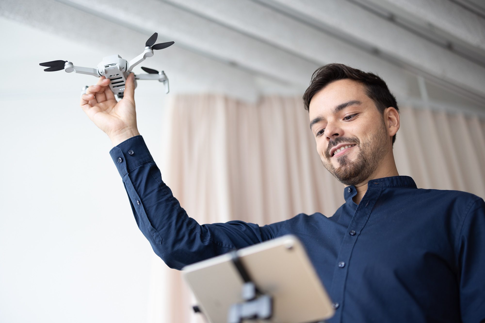
[[[425,75],[478,102],[485,99],[485,67],[341,0],[260,0],[357,44],[367,44],[396,64]],[[451,85],[451,86],[450,86]]]

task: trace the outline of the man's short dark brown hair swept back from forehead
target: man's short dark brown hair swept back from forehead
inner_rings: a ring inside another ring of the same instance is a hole
[[[388,107],[394,107],[399,112],[396,98],[389,91],[386,82],[372,73],[365,73],[350,66],[330,63],[320,66],[311,76],[310,86],[303,94],[305,109],[310,111],[310,101],[313,95],[322,90],[325,86],[339,79],[351,79],[362,83],[365,87],[367,96],[374,102],[376,108],[384,113]],[[392,144],[396,141],[396,135],[392,137]]]

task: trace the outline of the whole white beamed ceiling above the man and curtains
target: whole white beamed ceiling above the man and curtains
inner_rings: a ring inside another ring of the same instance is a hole
[[[158,32],[158,42],[175,45],[141,65],[163,69],[171,81],[176,76],[179,86],[171,82],[175,92],[183,91],[181,80],[192,80],[200,91],[246,100],[265,93],[299,95],[318,66],[341,62],[378,73],[398,102],[422,99],[419,84],[426,84],[434,89],[436,102],[463,102],[483,111],[484,14],[480,0],[0,2],[0,15],[8,19],[107,55],[116,50],[128,60]],[[35,54],[38,62],[71,60],[44,57],[42,49]]]

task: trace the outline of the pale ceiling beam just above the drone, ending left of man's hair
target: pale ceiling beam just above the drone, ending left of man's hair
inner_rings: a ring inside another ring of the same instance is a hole
[[[98,0],[63,2],[130,28],[157,31],[180,47],[286,84],[307,86],[318,67],[314,62],[159,0],[144,0],[136,6],[131,0],[117,0],[115,6],[113,2]]]

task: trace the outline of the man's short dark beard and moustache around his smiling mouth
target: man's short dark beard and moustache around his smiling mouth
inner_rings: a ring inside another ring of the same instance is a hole
[[[360,143],[360,140],[356,137],[337,137],[328,143],[327,151],[324,154],[327,163],[323,161],[322,163],[340,183],[345,185],[360,184],[369,179],[379,166],[379,162],[386,155],[386,143],[389,139],[386,124],[384,120],[381,119],[381,121],[381,126],[375,136],[372,136],[371,141]],[[355,160],[350,160],[346,154],[338,157],[337,162],[339,166],[336,168],[330,161],[330,149],[343,142],[355,143],[359,148],[359,153]]]

